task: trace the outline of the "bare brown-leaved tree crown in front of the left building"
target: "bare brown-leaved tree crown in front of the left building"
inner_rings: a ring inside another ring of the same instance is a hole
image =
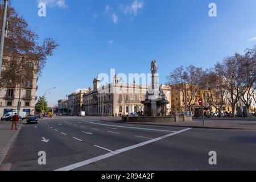
[[[0,15],[3,14],[2,12],[3,3],[1,1]],[[31,71],[34,75],[40,76],[46,65],[47,56],[52,56],[53,50],[59,46],[52,38],[44,39],[43,43],[40,44],[39,36],[31,30],[22,15],[11,6],[10,1],[7,10],[7,22],[9,26],[5,38],[0,88],[10,84],[18,85],[21,72],[24,74],[24,81],[30,79]],[[2,19],[0,19],[0,24],[2,24]],[[21,64],[23,56],[24,61]]]

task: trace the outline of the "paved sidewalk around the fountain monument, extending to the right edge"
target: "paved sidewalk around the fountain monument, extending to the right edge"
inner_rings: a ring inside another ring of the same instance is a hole
[[[157,126],[174,126],[174,127],[192,127],[202,129],[222,129],[222,130],[256,130],[256,120],[230,120],[230,119],[205,119],[205,126],[203,126],[203,119],[194,119],[192,122],[122,122],[117,118],[104,118],[102,121],[129,123],[139,125],[157,125]]]

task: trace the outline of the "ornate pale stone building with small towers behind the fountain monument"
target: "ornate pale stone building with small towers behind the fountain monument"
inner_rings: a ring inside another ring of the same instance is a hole
[[[93,89],[84,94],[84,111],[88,116],[94,115],[126,115],[137,113],[144,110],[141,101],[145,100],[147,85],[127,84],[120,82],[119,77],[115,76],[112,84],[99,86],[100,80],[94,78]],[[169,86],[162,85],[167,100],[171,101],[171,89]],[[171,111],[171,104],[168,106]]]

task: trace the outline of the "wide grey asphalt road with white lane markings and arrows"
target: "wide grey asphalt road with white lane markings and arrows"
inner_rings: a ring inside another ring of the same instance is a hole
[[[256,170],[256,131],[101,119],[62,117],[24,125],[4,163],[11,170]],[[46,152],[46,165],[39,165],[39,151]],[[209,164],[210,151],[217,152],[217,165]]]

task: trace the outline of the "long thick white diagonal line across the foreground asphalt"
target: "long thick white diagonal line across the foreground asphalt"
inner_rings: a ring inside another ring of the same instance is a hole
[[[103,159],[106,159],[106,158],[110,158],[110,157],[112,157],[112,156],[114,156],[114,155],[121,154],[122,152],[126,152],[126,151],[129,151],[129,150],[133,150],[134,148],[142,147],[142,146],[145,146],[146,144],[153,143],[153,142],[156,142],[156,141],[158,141],[158,140],[162,140],[162,139],[171,137],[171,136],[173,136],[173,135],[177,135],[177,134],[183,133],[184,131],[188,131],[188,130],[191,130],[191,128],[184,129],[184,130],[180,130],[180,131],[176,131],[175,133],[171,133],[171,134],[168,134],[168,135],[164,135],[164,136],[162,136],[162,137],[159,137],[159,138],[155,138],[155,139],[152,139],[152,140],[148,140],[148,141],[146,141],[146,142],[142,142],[142,143],[139,143],[139,144],[135,144],[134,146],[129,146],[129,147],[121,148],[121,149],[119,149],[119,150],[110,152],[110,153],[108,153],[108,154],[104,154],[104,155],[101,155],[101,156],[97,156],[97,157],[92,158],[92,159],[84,160],[84,161],[79,162],[79,163],[71,164],[71,165],[69,165],[69,166],[56,169],[55,171],[71,171],[72,169],[76,169],[76,168],[79,168],[79,167],[82,167],[82,166],[86,166],[87,164],[94,163],[94,162],[97,162],[97,161],[99,161],[99,160],[103,160]]]

